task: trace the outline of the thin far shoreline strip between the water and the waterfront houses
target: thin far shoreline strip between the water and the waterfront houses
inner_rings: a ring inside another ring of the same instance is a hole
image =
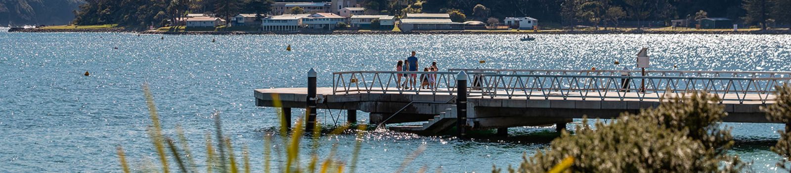
[[[8,32],[130,32],[141,34],[164,35],[524,35],[524,34],[750,34],[750,35],[791,35],[789,29],[751,30],[751,31],[697,31],[697,30],[544,30],[539,32],[515,30],[458,30],[458,31],[295,31],[295,32],[244,32],[244,31],[210,31],[210,32],[170,32],[170,31],[135,31],[125,28],[75,28],[75,29],[42,29],[42,28],[9,28]]]

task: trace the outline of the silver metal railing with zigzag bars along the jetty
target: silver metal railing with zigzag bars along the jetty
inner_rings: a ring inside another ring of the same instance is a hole
[[[459,71],[459,70],[457,70]],[[353,71],[333,73],[333,94],[456,94],[452,72]],[[621,70],[465,70],[467,95],[526,100],[646,100],[707,92],[722,101],[774,99],[774,86],[791,81],[791,72],[650,71],[656,76],[622,76]],[[514,74],[517,73],[517,74]],[[520,74],[521,73],[521,74]],[[627,71],[627,73],[637,73]],[[400,75],[399,75],[400,74]],[[416,76],[418,88],[404,88]],[[433,82],[421,87],[423,78]],[[401,83],[398,79],[401,78]]]

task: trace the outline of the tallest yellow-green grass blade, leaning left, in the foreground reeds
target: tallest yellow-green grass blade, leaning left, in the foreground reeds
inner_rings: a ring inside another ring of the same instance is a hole
[[[159,124],[157,107],[153,103],[153,95],[151,95],[151,90],[149,89],[148,84],[143,84],[143,95],[146,96],[146,105],[149,108],[151,122],[153,122],[153,130],[151,134],[149,134],[151,136],[151,142],[153,142],[154,148],[157,149],[157,154],[159,154],[159,160],[162,163],[162,171],[168,173],[170,171],[168,168],[168,160],[165,158],[165,146],[162,144],[162,127]]]

